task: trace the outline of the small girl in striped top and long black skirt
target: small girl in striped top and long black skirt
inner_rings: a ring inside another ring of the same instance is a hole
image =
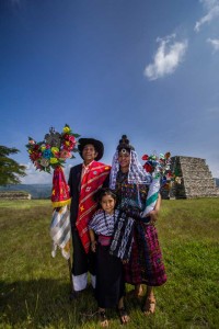
[[[91,250],[96,252],[96,287],[95,296],[99,304],[101,327],[108,327],[105,308],[117,307],[122,324],[127,324],[129,317],[124,307],[125,282],[122,260],[110,254],[110,245],[115,222],[118,218],[116,194],[111,189],[97,192],[101,205],[89,223]]]

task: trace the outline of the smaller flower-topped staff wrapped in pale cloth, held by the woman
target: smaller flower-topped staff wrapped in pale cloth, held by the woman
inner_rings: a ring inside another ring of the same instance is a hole
[[[171,181],[174,180],[174,175],[171,172],[171,154],[165,155],[145,155],[142,160],[146,160],[143,168],[148,173],[152,175],[152,182],[149,186],[146,208],[141,213],[141,217],[146,217],[155,206],[158,195],[161,186],[170,189]]]

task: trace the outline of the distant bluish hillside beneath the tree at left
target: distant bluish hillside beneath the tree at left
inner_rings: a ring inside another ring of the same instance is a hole
[[[51,195],[51,184],[10,184],[0,186],[0,191],[24,191],[32,195],[32,198],[49,198]]]

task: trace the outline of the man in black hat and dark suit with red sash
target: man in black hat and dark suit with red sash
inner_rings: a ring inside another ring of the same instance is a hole
[[[88,272],[95,287],[94,254],[90,251],[88,223],[97,208],[94,193],[107,184],[111,167],[99,160],[103,157],[103,143],[94,138],[79,139],[79,154],[83,163],[70,170],[70,219],[73,243],[72,281],[76,292],[87,287]]]

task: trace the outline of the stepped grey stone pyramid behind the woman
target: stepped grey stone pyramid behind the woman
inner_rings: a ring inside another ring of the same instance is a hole
[[[172,172],[181,177],[181,184],[173,183],[169,197],[164,198],[193,198],[219,197],[219,189],[205,159],[176,156],[171,158]]]

